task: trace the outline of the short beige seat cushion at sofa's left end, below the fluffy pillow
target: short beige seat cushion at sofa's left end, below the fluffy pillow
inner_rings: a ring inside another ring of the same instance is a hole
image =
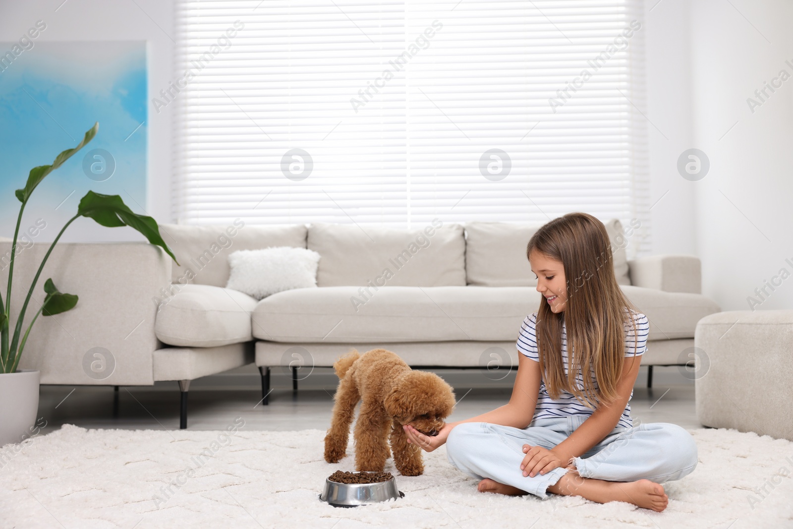
[[[178,347],[217,347],[247,342],[256,300],[220,286],[173,285],[176,292],[159,305],[157,338]]]

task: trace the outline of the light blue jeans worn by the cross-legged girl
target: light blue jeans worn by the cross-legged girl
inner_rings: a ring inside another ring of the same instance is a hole
[[[534,420],[527,428],[488,423],[458,424],[446,439],[446,454],[454,468],[471,477],[489,477],[546,499],[568,469],[560,466],[545,474],[524,477],[520,470],[523,445],[551,449],[576,430],[588,416]],[[571,460],[583,477],[606,481],[649,479],[656,483],[678,480],[693,472],[696,443],[683,427],[668,423],[618,426],[586,454]]]

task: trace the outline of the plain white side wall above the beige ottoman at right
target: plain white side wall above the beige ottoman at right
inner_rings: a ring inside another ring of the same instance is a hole
[[[746,102],[780,70],[793,75],[793,5],[731,2],[691,4],[694,140],[711,159],[692,183],[703,291],[722,310],[745,310],[764,280],[793,274],[793,79],[754,113]],[[793,307],[793,277],[767,292],[758,309]]]

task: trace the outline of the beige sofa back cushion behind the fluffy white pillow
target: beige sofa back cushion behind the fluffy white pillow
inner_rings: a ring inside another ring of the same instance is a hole
[[[160,235],[174,252],[171,282],[226,286],[231,269],[228,254],[266,247],[305,248],[305,224],[253,226],[237,219],[225,226],[160,224]]]

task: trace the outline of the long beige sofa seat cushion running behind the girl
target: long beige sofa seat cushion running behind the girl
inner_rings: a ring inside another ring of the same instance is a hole
[[[651,340],[692,338],[697,321],[718,312],[699,294],[622,288],[648,317]],[[253,335],[282,343],[515,340],[540,301],[536,289],[521,286],[294,289],[259,301]]]

